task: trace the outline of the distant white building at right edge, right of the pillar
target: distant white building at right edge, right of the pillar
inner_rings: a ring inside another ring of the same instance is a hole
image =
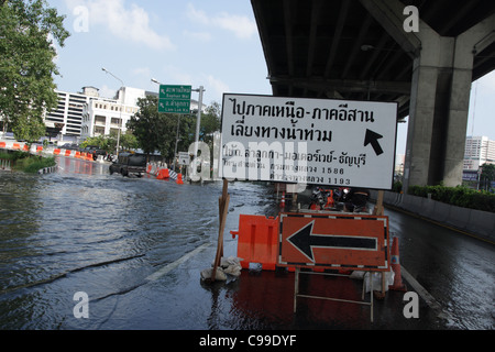
[[[464,170],[476,170],[483,164],[495,164],[495,141],[487,136],[466,136]]]

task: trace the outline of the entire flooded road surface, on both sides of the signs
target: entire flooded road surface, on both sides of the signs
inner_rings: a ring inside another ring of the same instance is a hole
[[[402,293],[377,304],[374,326],[367,308],[321,301],[301,301],[294,316],[290,273],[200,283],[216,249],[221,183],[177,185],[57,162],[54,174],[0,173],[0,329],[494,328],[493,244],[386,210],[402,264],[448,319],[424,304],[422,320],[405,319]],[[229,194],[226,256],[235,254],[229,230],[239,215],[278,211],[267,185],[231,183]],[[75,318],[76,293],[89,296],[89,319]]]

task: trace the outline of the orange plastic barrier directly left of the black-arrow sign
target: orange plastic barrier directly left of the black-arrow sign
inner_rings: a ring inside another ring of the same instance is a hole
[[[250,263],[260,263],[263,270],[275,270],[278,223],[278,217],[239,216],[239,230],[230,231],[230,233],[232,238],[239,235],[238,257],[241,258],[243,268],[249,268]]]

